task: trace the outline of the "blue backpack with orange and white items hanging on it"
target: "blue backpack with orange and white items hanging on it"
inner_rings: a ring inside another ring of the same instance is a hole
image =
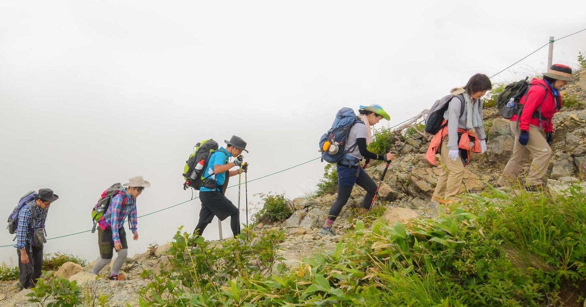
[[[353,147],[357,146],[356,143],[352,148],[345,149],[346,137],[355,123],[364,125],[364,122],[356,116],[354,110],[342,108],[336,113],[336,119],[333,121],[332,127],[319,139],[322,162],[325,160],[328,163],[338,163],[346,156],[346,151],[353,150]]]

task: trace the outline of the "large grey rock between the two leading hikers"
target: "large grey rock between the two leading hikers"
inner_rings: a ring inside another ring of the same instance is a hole
[[[490,162],[504,162],[509,161],[513,153],[513,142],[515,135],[511,132],[510,121],[506,119],[495,119],[492,126],[488,130],[486,143],[486,153]]]

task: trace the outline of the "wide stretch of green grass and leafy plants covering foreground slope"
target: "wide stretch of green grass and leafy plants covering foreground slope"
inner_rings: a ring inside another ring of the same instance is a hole
[[[359,220],[334,250],[272,273],[267,265],[276,261],[278,234],[255,234],[241,248],[200,241],[205,248],[185,258],[182,246],[191,239],[178,233],[171,251],[177,269],[141,291],[142,305],[540,306],[559,305],[564,289],[581,285],[586,195],[580,188],[555,199],[492,191],[461,206],[407,226],[367,227]],[[222,278],[227,268],[229,278]]]

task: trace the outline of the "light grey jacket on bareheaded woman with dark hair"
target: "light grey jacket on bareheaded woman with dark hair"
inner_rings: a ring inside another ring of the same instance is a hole
[[[452,95],[464,94],[464,88],[454,88],[451,91]],[[467,95],[467,94],[464,94]],[[477,116],[479,120],[477,126],[474,127],[478,139],[485,140],[486,133],[484,131],[484,122],[482,120],[482,102],[480,99],[471,99],[473,116]],[[448,109],[444,113],[444,119],[448,120],[448,149],[458,149],[458,128],[466,129],[466,120],[468,119],[468,109],[464,102],[464,113],[460,116],[462,109],[462,102],[458,97],[452,98],[449,102]]]

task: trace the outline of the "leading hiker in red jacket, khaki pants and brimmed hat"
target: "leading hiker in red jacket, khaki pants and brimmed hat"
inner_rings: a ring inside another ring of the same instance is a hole
[[[525,180],[528,191],[544,187],[544,177],[551,158],[553,144],[553,115],[561,109],[560,89],[572,81],[572,68],[553,64],[543,79],[534,78],[527,94],[520,102],[523,104],[521,116],[510,120],[511,131],[515,134],[513,153],[497,184],[502,187],[517,181],[519,171],[533,154],[529,174]],[[545,133],[545,137],[542,134]]]

